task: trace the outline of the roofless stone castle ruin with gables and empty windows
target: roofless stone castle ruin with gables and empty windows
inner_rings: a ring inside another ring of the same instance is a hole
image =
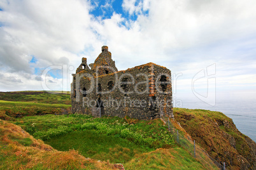
[[[108,46],[94,63],[81,65],[73,74],[71,101],[73,113],[135,119],[155,119],[161,115],[173,117],[171,71],[146,63],[118,71]]]

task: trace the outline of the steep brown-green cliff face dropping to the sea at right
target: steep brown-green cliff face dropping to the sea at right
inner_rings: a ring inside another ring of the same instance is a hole
[[[227,169],[256,169],[256,144],[221,112],[174,108],[174,117],[208,154]]]

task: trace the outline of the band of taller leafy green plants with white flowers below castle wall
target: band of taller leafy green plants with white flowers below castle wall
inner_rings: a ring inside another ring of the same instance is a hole
[[[128,124],[125,119],[119,117],[94,118],[90,115],[72,114],[23,117],[18,120],[13,123],[21,126],[35,138],[45,141],[73,131],[95,130],[97,134],[124,138],[151,148],[168,148],[174,144],[173,136],[159,119]]]

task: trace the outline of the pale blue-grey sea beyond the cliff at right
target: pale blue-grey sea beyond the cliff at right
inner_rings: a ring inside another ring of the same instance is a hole
[[[232,119],[241,133],[256,141],[256,101],[254,100],[217,100],[216,104],[211,106],[200,100],[183,99],[182,105],[176,107],[222,112]]]

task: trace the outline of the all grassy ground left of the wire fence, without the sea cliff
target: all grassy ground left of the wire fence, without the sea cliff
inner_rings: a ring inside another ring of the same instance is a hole
[[[194,158],[177,144],[160,119],[95,119],[68,114],[70,103],[58,92],[0,93],[0,169],[217,169],[204,151]]]

